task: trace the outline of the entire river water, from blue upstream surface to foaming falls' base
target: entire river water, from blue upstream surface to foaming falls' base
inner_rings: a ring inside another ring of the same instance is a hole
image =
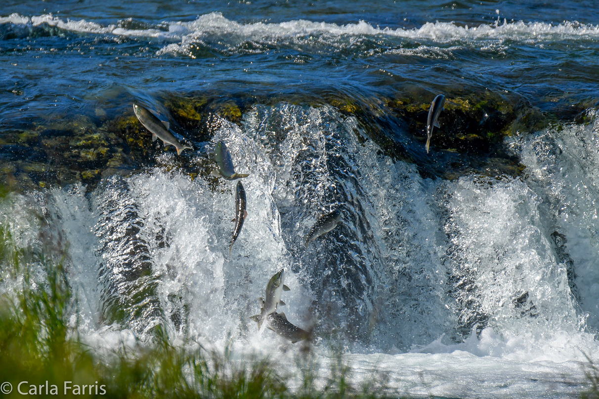
[[[595,9],[5,0],[2,222],[23,246],[68,243],[80,332],[98,350],[164,325],[173,342],[231,334],[291,364],[295,349],[248,319],[284,267],[282,310],[323,356],[341,343],[355,382],[576,397],[580,362],[599,359]],[[426,154],[438,93],[448,111]],[[202,110],[193,129],[174,98]],[[114,133],[133,100],[195,150]],[[235,182],[205,173],[219,140],[250,173],[230,255]],[[340,225],[305,248],[335,208]]]

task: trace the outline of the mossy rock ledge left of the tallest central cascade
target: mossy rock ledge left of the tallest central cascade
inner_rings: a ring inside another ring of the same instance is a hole
[[[181,133],[187,144],[210,140],[216,128],[215,115],[233,123],[241,121],[240,105],[233,98],[168,94],[159,100],[170,112],[175,132]],[[152,134],[141,125],[131,106],[118,109],[119,113],[110,116],[96,109],[95,115],[39,120],[2,131],[0,185],[9,191],[74,182],[93,188],[103,177],[126,175],[148,166],[182,169],[192,178],[210,173],[210,160],[193,160],[188,150],[180,157],[171,157],[173,148],[165,148],[161,141],[152,142]]]

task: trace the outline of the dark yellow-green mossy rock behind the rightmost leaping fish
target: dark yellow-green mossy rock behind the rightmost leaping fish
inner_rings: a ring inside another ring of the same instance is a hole
[[[469,172],[489,176],[521,173],[522,165],[503,142],[515,131],[522,99],[491,90],[448,90],[443,93],[446,100],[438,118],[440,127],[435,127],[431,153],[426,154],[428,111],[437,94],[416,89],[385,100],[385,121],[377,124],[394,130],[390,152],[416,163],[423,176],[453,179]]]

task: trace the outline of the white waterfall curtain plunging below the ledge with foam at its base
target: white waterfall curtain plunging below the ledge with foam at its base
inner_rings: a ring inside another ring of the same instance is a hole
[[[355,383],[375,376],[421,396],[576,397],[583,352],[599,358],[599,121],[589,120],[510,138],[522,178],[443,181],[361,144],[356,121],[334,108],[257,106],[241,128],[223,121],[212,142],[225,141],[238,172],[251,173],[231,255],[235,183],[179,172],[113,177],[89,196],[79,185],[17,196],[2,218],[20,245],[37,243],[39,230],[69,243],[81,332],[98,350],[164,324],[174,341],[222,348],[231,334],[236,352],[293,368],[299,344],[259,336],[248,319],[285,267],[280,310],[314,325],[323,359],[329,339],[341,340]],[[335,207],[340,226],[304,249],[317,214]],[[132,300],[119,275],[140,254],[153,288]],[[98,283],[107,267],[113,280]],[[115,296],[144,316],[106,325],[101,309]]]

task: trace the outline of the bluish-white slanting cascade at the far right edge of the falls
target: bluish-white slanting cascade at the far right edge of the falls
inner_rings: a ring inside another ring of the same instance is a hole
[[[588,111],[588,122],[552,127],[509,141],[530,176],[529,184],[543,193],[552,237],[564,269],[570,270],[573,296],[588,314],[586,326],[599,331],[599,118]]]

